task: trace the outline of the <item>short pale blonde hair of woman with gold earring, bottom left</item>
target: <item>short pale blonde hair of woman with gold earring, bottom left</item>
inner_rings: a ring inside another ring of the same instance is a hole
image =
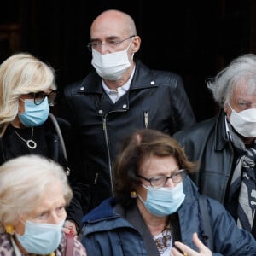
[[[8,160],[0,166],[0,232],[4,224],[13,224],[32,212],[42,201],[45,191],[60,182],[68,204],[73,192],[66,172],[54,160],[28,154]]]

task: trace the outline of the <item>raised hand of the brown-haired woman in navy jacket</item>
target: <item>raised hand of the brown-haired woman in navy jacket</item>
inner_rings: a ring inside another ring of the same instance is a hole
[[[172,247],[171,256],[212,256],[211,250],[200,241],[196,233],[193,234],[193,241],[195,243],[195,246],[198,247],[199,253],[186,246],[182,242],[175,241],[175,246],[180,251],[178,251],[175,247]]]

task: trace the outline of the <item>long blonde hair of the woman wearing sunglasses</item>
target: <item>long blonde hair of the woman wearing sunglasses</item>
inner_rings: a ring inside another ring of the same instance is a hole
[[[55,90],[55,71],[28,53],[10,56],[0,65],[0,137],[19,112],[19,97]]]

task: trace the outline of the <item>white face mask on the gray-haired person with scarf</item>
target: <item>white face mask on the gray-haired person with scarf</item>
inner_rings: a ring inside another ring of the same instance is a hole
[[[230,124],[234,129],[243,137],[256,137],[256,108],[246,109],[239,113],[233,108],[231,110]]]

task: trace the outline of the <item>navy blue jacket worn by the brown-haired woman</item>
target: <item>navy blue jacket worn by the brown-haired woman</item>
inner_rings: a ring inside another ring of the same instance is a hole
[[[192,241],[197,232],[201,241],[206,242],[205,230],[201,226],[198,206],[198,192],[189,177],[183,180],[185,200],[177,214],[183,243],[198,250]],[[213,255],[256,255],[256,241],[246,230],[240,230],[224,207],[207,198],[209,218],[212,225]],[[128,211],[122,209],[113,199],[103,201],[84,216],[82,243],[88,256],[134,256],[160,255],[152,236],[137,207]]]

